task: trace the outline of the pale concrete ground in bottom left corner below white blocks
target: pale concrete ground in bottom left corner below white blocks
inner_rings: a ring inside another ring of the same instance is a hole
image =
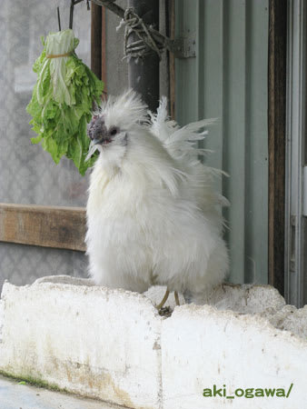
[[[123,407],[20,384],[0,375],[0,409],[123,409]]]

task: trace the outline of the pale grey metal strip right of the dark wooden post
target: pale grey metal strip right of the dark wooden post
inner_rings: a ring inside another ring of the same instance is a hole
[[[288,10],[285,298],[288,304],[302,307],[306,303],[307,292],[306,219],[303,216],[303,166],[306,161],[306,3],[304,0],[288,0]]]

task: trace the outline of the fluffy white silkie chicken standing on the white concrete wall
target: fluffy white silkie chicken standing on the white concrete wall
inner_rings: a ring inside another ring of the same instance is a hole
[[[88,126],[89,155],[100,151],[86,208],[89,272],[99,285],[139,293],[166,285],[196,300],[228,268],[219,212],[226,200],[195,147],[208,121],[180,128],[165,98],[150,121],[147,114],[130,90],[110,97]]]

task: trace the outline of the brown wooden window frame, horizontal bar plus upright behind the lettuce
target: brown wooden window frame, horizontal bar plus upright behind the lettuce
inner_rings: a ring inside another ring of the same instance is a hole
[[[105,88],[105,11],[91,5],[91,68]],[[0,203],[0,242],[85,252],[82,207]]]

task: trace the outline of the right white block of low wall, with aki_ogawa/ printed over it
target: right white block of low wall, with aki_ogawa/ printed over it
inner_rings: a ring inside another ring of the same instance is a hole
[[[184,305],[163,322],[163,409],[302,409],[307,343],[256,315]],[[204,388],[285,388],[289,398],[203,397]]]

